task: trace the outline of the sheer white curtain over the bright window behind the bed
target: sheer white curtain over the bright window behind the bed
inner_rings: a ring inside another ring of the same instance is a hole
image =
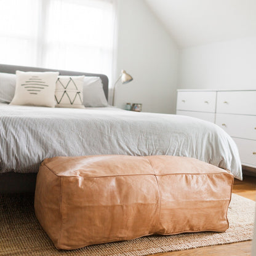
[[[0,0],[0,63],[111,79],[112,0]]]

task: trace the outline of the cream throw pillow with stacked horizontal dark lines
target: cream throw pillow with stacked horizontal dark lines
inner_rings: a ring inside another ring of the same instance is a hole
[[[58,72],[16,71],[15,94],[10,105],[55,106]]]

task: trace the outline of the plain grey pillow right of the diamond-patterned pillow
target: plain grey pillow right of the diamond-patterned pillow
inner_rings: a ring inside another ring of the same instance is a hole
[[[84,77],[84,106],[108,106],[102,79],[96,76]]]

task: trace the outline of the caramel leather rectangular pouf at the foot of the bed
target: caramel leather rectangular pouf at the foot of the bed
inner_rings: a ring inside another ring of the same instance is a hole
[[[149,234],[228,229],[233,175],[176,156],[57,157],[42,162],[36,217],[58,249]]]

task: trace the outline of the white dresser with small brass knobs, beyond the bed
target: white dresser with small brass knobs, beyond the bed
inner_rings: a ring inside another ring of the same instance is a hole
[[[256,90],[178,90],[177,114],[215,122],[233,137],[242,165],[256,168]]]

